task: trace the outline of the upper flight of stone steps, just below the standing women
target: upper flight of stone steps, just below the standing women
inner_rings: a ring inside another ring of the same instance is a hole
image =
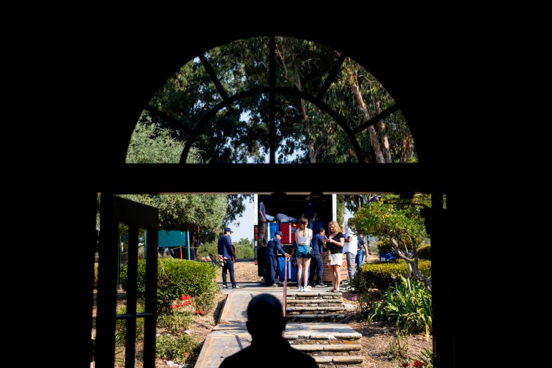
[[[339,322],[345,318],[342,293],[288,291],[286,299],[288,322]]]

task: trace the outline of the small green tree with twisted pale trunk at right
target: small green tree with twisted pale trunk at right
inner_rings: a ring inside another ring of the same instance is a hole
[[[414,275],[431,292],[431,280],[418,269],[417,248],[428,236],[424,219],[420,216],[420,209],[424,207],[431,208],[430,195],[415,195],[412,200],[401,200],[398,195],[383,195],[381,200],[359,209],[348,225],[357,234],[391,240],[395,252],[408,265],[406,280]]]

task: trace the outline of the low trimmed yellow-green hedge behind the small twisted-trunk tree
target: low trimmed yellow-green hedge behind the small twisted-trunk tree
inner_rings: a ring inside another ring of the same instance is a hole
[[[418,268],[424,275],[431,275],[431,260],[418,261]],[[376,261],[363,264],[353,282],[357,291],[361,293],[366,293],[370,288],[386,290],[389,285],[406,276],[406,273],[408,273],[408,265],[404,260]]]

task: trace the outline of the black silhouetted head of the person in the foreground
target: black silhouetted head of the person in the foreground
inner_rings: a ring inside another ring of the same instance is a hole
[[[272,294],[254,296],[247,306],[247,330],[253,340],[275,340],[286,329],[282,302]]]

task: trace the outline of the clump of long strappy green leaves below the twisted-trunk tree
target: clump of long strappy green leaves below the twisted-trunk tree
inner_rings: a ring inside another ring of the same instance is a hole
[[[395,282],[395,286],[384,293],[370,319],[394,322],[407,333],[423,331],[429,338],[433,331],[431,293],[417,280],[411,280],[409,290],[406,278],[401,276],[400,282]]]

